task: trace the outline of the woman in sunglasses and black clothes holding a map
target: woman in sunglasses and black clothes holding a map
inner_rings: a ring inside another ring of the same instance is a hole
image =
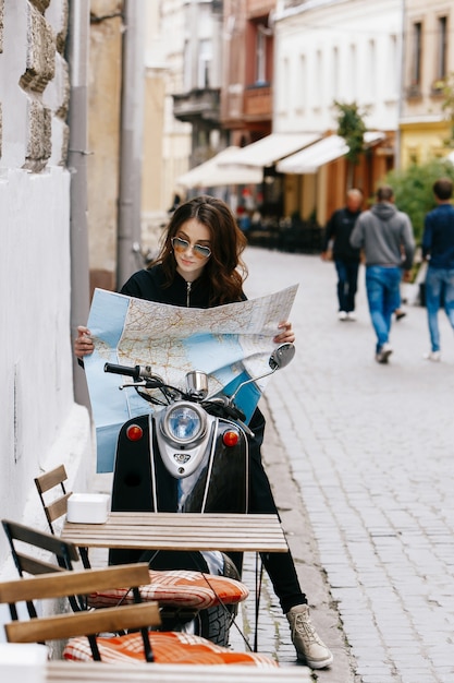
[[[245,247],[246,239],[229,206],[211,196],[198,196],[175,209],[158,259],[147,269],[135,273],[122,287],[121,293],[194,308],[244,301],[243,281],[247,268],[241,254]],[[273,343],[294,340],[291,323],[281,322]],[[87,327],[78,327],[74,350],[79,359],[93,352],[94,344]],[[249,450],[249,512],[275,513],[270,483],[261,463],[265,419],[260,410],[255,411],[250,427],[255,436],[250,440]],[[262,562],[291,625],[298,659],[312,669],[328,667],[333,657],[310,622],[306,596],[299,587],[291,553],[263,553]]]

